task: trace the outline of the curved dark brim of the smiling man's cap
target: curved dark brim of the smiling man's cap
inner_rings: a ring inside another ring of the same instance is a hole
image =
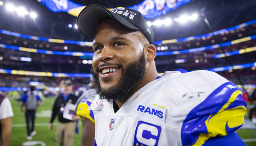
[[[103,19],[109,17],[112,17],[114,20],[116,20],[118,23],[125,27],[133,30],[140,30],[140,28],[136,27],[128,20],[97,4],[91,4],[85,7],[78,15],[78,18],[76,19],[76,24],[78,26],[78,30],[83,35],[94,39],[95,31],[99,23]]]

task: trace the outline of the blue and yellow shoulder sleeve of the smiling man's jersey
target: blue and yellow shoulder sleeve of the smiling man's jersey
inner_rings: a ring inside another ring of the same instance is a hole
[[[241,89],[216,74],[208,75],[208,81],[217,88],[186,116],[181,128],[182,145],[202,146],[211,137],[231,134],[244,123],[247,105]]]

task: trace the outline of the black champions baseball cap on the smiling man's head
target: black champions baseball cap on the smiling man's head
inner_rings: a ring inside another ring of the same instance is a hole
[[[141,31],[148,41],[154,45],[153,30],[147,25],[142,14],[134,9],[117,7],[110,11],[102,5],[91,4],[80,12],[76,19],[76,25],[83,35],[94,39],[99,23],[109,17],[112,17],[122,26]]]

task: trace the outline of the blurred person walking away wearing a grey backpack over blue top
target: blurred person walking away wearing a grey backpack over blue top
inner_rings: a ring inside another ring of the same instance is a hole
[[[37,106],[41,105],[41,99],[37,95],[35,91],[35,87],[31,86],[30,91],[25,94],[22,99],[21,99],[21,104],[20,104],[20,110],[23,112],[23,106],[24,104],[26,105],[25,109],[25,116],[26,116],[26,122],[27,122],[27,137],[26,139],[31,141],[32,136],[37,134],[36,131],[34,131],[34,124],[35,124],[35,112],[37,110]],[[32,127],[30,128],[29,123],[32,123]]]

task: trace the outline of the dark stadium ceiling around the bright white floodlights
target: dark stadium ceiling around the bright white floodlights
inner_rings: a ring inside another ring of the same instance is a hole
[[[44,7],[37,0],[1,0],[3,5],[0,9],[0,28],[20,34],[33,35],[38,37],[53,36],[56,39],[70,39],[80,41],[92,41],[81,35],[77,30],[68,29],[68,24],[75,24],[76,17],[67,13],[54,13]],[[129,7],[139,4],[143,0],[72,0],[82,5],[101,4],[107,8]],[[15,7],[25,7],[29,12],[35,12],[35,19],[20,17],[14,13],[7,12],[4,5],[11,3]],[[162,15],[150,21],[162,19],[179,18],[182,15],[199,14],[200,9],[206,7],[204,14],[215,31],[236,26],[241,23],[256,19],[256,0],[194,0],[191,3]],[[54,33],[53,26],[54,23]],[[169,26],[151,26],[155,33],[155,41],[166,39],[178,39],[195,35],[209,33],[202,18],[193,22],[173,22]]]

